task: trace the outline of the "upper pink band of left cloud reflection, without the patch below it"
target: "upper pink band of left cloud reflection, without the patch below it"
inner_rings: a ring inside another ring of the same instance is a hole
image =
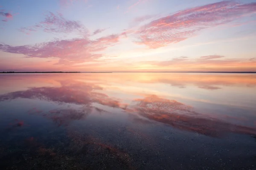
[[[0,101],[27,98],[88,106],[92,102],[98,102],[99,104],[108,105],[111,107],[119,106],[119,101],[109,98],[109,96],[104,93],[93,91],[102,90],[101,87],[83,82],[71,82],[72,83],[62,81],[61,87],[29,88],[26,91],[15,91],[12,93],[3,94],[0,96]]]

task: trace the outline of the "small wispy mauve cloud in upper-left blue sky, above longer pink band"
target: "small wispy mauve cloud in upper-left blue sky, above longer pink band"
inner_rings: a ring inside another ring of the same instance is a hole
[[[88,30],[79,21],[67,20],[61,13],[57,15],[49,12],[43,22],[35,26],[20,28],[20,31],[28,33],[30,31],[43,30],[50,33],[71,33],[75,32],[82,36],[88,35]]]

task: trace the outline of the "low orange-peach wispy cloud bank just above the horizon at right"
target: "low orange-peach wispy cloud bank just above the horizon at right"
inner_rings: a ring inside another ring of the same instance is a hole
[[[174,71],[256,71],[256,61],[252,59],[225,59],[224,56],[210,55],[197,58],[176,57],[166,61],[148,61],[141,64],[148,68],[170,69]],[[240,70],[239,70],[240,69]]]

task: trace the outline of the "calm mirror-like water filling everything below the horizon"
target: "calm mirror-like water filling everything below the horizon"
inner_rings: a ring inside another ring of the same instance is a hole
[[[256,74],[0,74],[0,167],[256,170]]]

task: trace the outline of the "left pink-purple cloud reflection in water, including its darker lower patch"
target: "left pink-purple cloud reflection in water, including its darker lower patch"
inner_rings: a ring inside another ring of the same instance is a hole
[[[84,119],[93,109],[98,112],[104,111],[101,108],[93,107],[92,103],[98,103],[113,108],[121,108],[120,101],[110,98],[107,94],[96,92],[102,91],[102,88],[90,83],[77,81],[61,81],[61,87],[40,87],[29,88],[26,91],[15,91],[0,95],[0,101],[10,101],[13,99],[38,99],[58,104],[76,104],[82,105],[79,109],[61,109],[51,110],[47,113],[32,108],[30,114],[40,114],[52,119],[58,126],[67,126],[72,120]]]

